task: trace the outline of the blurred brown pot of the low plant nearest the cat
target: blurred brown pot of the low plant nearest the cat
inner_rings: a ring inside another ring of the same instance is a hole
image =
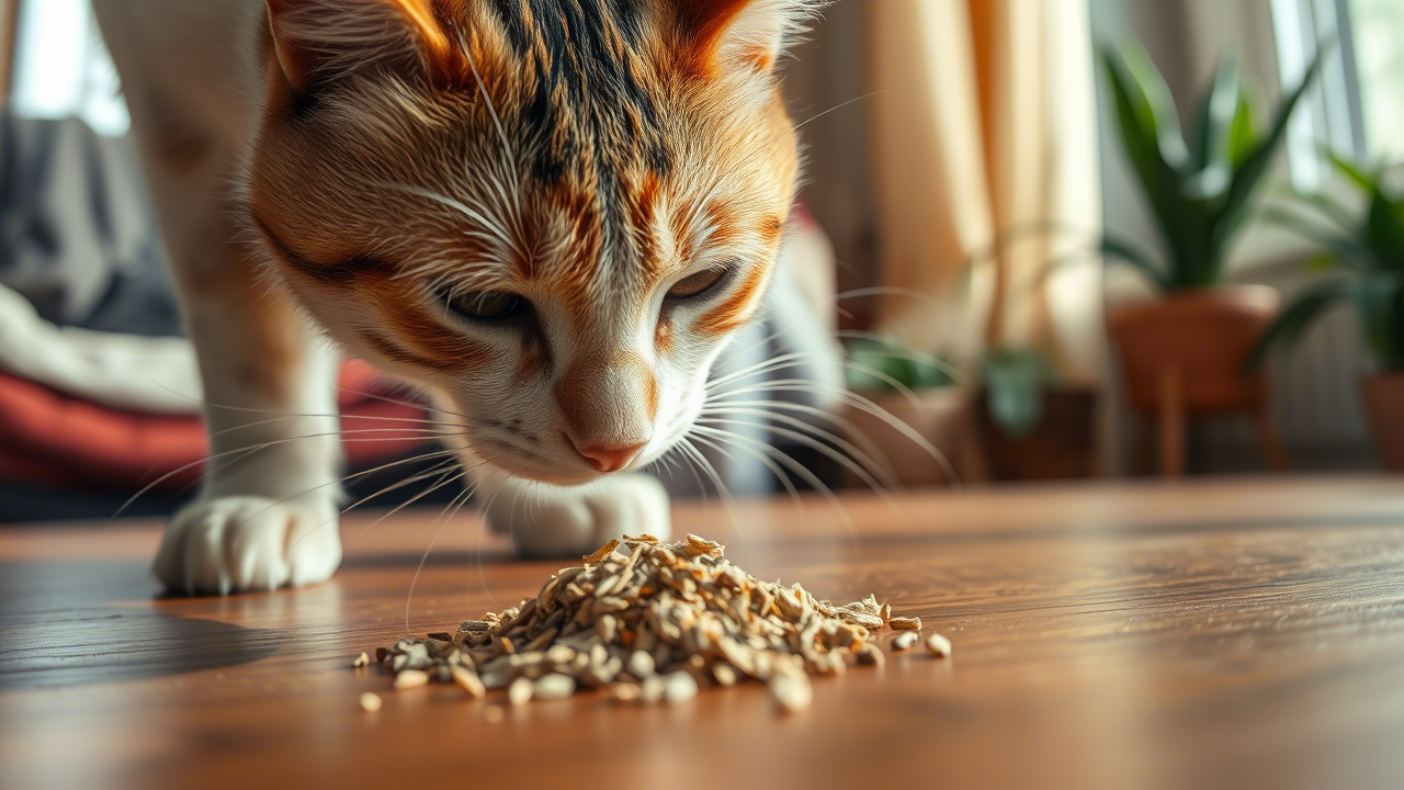
[[[927,389],[917,394],[915,403],[897,392],[863,392],[862,395],[910,426],[941,451],[952,467],[956,465],[960,454],[960,432],[966,420],[966,399],[962,389],[956,387]],[[896,477],[903,486],[951,485],[946,467],[932,458],[931,453],[913,441],[904,432],[852,405],[845,409],[844,417],[849,423],[849,441],[859,450],[876,450],[880,455],[875,455],[873,460],[879,467],[886,467],[886,471]],[[851,485],[866,486],[852,471],[848,471],[845,477]]]

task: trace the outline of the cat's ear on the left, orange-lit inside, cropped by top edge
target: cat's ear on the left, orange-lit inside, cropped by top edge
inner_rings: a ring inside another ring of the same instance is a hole
[[[448,67],[432,0],[267,0],[278,63],[300,93],[368,66]]]

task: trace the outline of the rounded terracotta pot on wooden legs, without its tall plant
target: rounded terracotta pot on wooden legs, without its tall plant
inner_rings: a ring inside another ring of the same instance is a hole
[[[1279,306],[1266,285],[1224,285],[1111,311],[1108,332],[1132,406],[1158,409],[1174,387],[1189,412],[1259,408],[1266,374],[1245,375],[1243,367]]]

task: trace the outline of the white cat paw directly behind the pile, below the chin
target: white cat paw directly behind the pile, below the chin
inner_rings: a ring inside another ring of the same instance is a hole
[[[647,475],[580,488],[508,481],[494,493],[487,522],[494,531],[511,534],[522,557],[580,557],[625,534],[667,538],[673,533],[668,492]]]

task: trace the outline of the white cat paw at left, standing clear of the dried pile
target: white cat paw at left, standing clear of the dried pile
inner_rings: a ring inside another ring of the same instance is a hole
[[[227,595],[323,582],[338,564],[341,536],[330,502],[219,496],[171,519],[152,571],[168,590]]]

